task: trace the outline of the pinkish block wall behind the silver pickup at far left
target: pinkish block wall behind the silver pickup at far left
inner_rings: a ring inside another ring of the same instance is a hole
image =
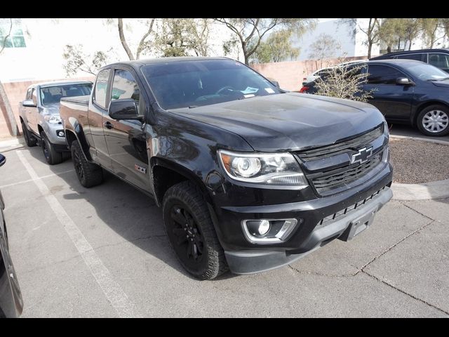
[[[20,82],[10,82],[4,83],[3,86],[6,91],[6,95],[8,95],[9,104],[11,104],[11,108],[13,109],[15,121],[19,126],[20,132],[22,132],[22,128],[20,127],[20,119],[19,119],[19,104],[22,100],[25,99],[25,95],[27,93],[27,88],[32,84],[45,82],[45,81],[61,81],[61,80],[88,80],[93,81],[95,77],[78,77],[76,79],[51,79],[51,80],[40,80],[40,81],[20,81]],[[11,125],[8,121],[8,114],[6,113],[6,109],[4,104],[0,98],[0,138],[7,138],[12,135]]]

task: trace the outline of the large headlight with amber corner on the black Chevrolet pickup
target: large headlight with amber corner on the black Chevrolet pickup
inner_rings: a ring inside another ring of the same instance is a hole
[[[306,187],[300,165],[290,153],[246,153],[218,150],[227,175],[246,183]]]

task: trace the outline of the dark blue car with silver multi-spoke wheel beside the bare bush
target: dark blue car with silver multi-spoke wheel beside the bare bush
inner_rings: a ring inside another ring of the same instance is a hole
[[[410,124],[427,136],[449,133],[449,76],[442,70],[414,60],[368,61],[366,91],[370,103],[391,123]],[[314,82],[304,93],[316,93]]]

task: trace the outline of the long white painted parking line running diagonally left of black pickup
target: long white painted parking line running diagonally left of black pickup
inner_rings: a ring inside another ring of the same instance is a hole
[[[39,179],[36,171],[34,171],[22,152],[18,151],[15,153],[17,153],[23,166],[25,166],[25,169],[27,169],[32,181],[34,181],[43,197],[45,197],[53,213],[55,213],[55,216],[60,221],[62,227],[64,227],[70,239],[72,239],[76,249],[83,258],[84,263],[86,263],[89,270],[91,270],[91,274],[95,278],[95,281],[98,283],[103,293],[105,293],[107,300],[116,310],[119,317],[140,317],[140,315],[138,315],[138,313],[133,309],[133,303],[130,302],[126,293],[123,289],[121,289],[121,286],[112,278],[111,272],[109,272],[107,267],[102,263],[100,257],[97,253],[95,253],[91,244],[88,243],[86,237],[84,237],[83,233],[79,230],[78,226],[76,226],[72,218],[69,217],[58,199],[51,194],[47,185]]]

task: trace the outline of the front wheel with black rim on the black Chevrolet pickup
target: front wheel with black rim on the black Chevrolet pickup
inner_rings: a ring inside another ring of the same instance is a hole
[[[185,181],[163,197],[163,223],[182,267],[198,279],[214,279],[228,270],[212,218],[198,187]]]

